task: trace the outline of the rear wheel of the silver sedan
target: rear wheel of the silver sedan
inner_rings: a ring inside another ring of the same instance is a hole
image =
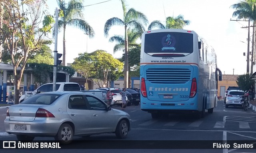
[[[61,144],[67,145],[73,139],[73,129],[69,124],[62,124],[58,130],[55,140],[60,141]]]

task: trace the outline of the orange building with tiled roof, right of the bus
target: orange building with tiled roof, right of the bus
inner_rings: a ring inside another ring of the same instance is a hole
[[[222,81],[218,81],[218,95],[225,97],[228,86],[238,86],[236,80],[239,75],[222,75]]]

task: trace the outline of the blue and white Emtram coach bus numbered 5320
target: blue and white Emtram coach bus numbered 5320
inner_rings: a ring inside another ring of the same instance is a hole
[[[196,32],[157,29],[142,34],[140,108],[152,118],[212,113],[221,79],[214,49]]]

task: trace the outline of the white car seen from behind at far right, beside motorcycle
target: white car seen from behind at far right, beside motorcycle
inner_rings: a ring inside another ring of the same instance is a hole
[[[242,106],[241,97],[244,95],[243,90],[229,90],[226,96],[226,108],[228,106]]]

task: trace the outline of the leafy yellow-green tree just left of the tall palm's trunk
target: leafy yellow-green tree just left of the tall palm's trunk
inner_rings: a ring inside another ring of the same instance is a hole
[[[94,69],[96,69],[96,75],[93,77],[94,82],[96,82],[100,88],[108,87],[110,81],[117,80],[122,75],[123,63],[115,59],[110,53],[97,50],[89,55]]]

